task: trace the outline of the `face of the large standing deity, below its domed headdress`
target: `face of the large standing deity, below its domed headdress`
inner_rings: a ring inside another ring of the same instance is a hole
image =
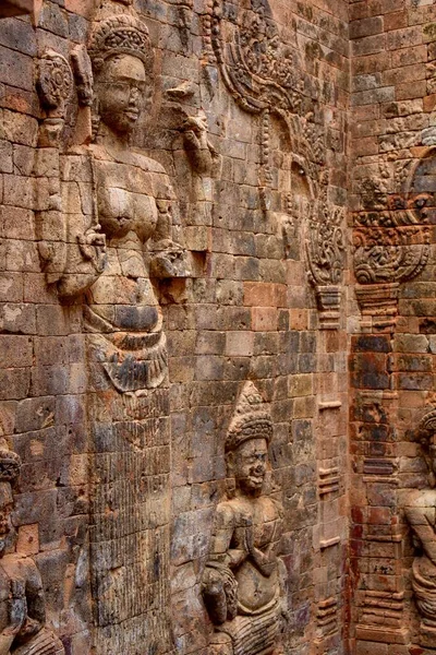
[[[131,55],[111,57],[105,62],[96,88],[102,122],[118,134],[130,134],[144,105],[144,63]]]

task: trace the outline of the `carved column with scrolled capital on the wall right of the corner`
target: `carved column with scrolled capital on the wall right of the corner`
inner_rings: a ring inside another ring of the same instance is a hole
[[[390,188],[398,192],[390,195],[384,169],[382,181],[364,180],[361,211],[353,216],[355,290],[362,313],[350,354],[350,584],[356,600],[355,639],[373,642],[374,647],[410,643],[402,571],[403,436],[398,421],[400,393],[405,389],[402,371],[407,370],[400,355],[400,300],[402,283],[421,273],[429,254],[426,202],[421,193],[427,168],[423,158],[409,163],[409,174],[404,176],[401,169],[402,177],[392,179]]]

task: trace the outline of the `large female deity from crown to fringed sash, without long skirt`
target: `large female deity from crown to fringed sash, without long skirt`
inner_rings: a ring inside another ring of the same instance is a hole
[[[85,294],[96,358],[120,392],[137,392],[159,386],[167,372],[162,313],[150,278],[185,277],[187,270],[172,240],[169,178],[131,146],[150,93],[147,27],[133,10],[109,15],[96,22],[88,53],[95,142],[64,160],[69,254],[58,287],[62,296]]]

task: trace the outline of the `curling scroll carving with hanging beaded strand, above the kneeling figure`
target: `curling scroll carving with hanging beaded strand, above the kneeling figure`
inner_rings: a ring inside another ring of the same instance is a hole
[[[279,116],[287,127],[292,154],[311,180],[313,193],[310,212],[303,215],[295,212],[292,190],[291,198],[282,198],[279,219],[284,253],[287,257],[292,250],[289,241],[295,230],[304,229],[308,277],[318,300],[320,326],[336,327],[344,269],[344,213],[326,202],[328,180],[322,179],[327,138],[319,100],[329,94],[329,85],[322,87],[306,74],[298,50],[284,43],[267,0],[215,0],[204,21],[204,43],[209,62],[217,62],[235,102],[259,116],[259,192],[264,210],[270,209],[268,190],[272,179],[270,117]]]

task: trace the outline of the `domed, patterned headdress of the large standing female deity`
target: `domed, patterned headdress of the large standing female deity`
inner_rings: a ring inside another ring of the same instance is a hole
[[[95,72],[101,70],[106,59],[117,55],[137,57],[148,69],[153,49],[147,26],[132,13],[98,21],[90,35],[88,53]]]

